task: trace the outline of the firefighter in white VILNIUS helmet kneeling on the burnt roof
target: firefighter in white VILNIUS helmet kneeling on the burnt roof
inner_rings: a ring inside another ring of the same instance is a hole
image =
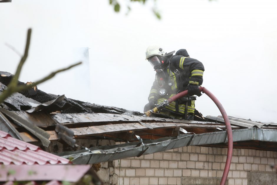
[[[176,119],[193,120],[196,99],[193,95],[202,95],[199,86],[203,83],[204,66],[198,60],[190,58],[185,49],[178,50],[176,55],[174,53],[175,51],[166,53],[159,46],[149,46],[146,49],[146,60],[156,71],[156,76],[144,112],[175,94],[188,90],[188,96],[170,103],[160,113]]]

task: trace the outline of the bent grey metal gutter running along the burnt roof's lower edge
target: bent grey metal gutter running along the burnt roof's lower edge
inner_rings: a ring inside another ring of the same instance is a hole
[[[233,130],[234,142],[246,140],[260,140],[277,142],[277,130],[249,128]],[[112,146],[100,146],[86,148],[75,152],[60,153],[65,158],[73,157],[75,164],[93,164],[104,161],[113,161],[128,157],[162,152],[189,145],[211,145],[227,142],[227,132],[211,132],[204,134],[181,134],[178,137],[164,137],[157,140],[144,141],[144,145],[139,142],[125,143]]]

